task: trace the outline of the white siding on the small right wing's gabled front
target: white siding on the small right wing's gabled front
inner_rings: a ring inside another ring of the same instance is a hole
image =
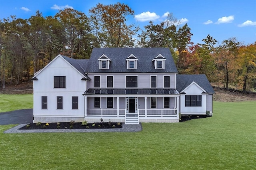
[[[181,114],[205,114],[206,113],[206,94],[202,94],[196,84],[192,84],[188,89],[184,91],[186,94],[180,95],[180,113]],[[202,95],[202,106],[201,107],[185,107],[185,95]]]

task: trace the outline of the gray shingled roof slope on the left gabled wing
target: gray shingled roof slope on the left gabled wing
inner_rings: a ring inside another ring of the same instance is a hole
[[[88,59],[73,59],[70,57],[66,57],[65,55],[61,56],[66,59],[66,61],[68,61],[71,65],[73,65],[73,67],[75,67],[80,73],[82,73],[82,75],[84,75],[86,79],[90,79],[90,77],[86,75],[86,71],[84,70],[84,68],[86,68],[88,64]]]

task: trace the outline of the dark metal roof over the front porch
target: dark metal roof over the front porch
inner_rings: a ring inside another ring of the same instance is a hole
[[[177,95],[176,89],[88,89],[84,95]]]

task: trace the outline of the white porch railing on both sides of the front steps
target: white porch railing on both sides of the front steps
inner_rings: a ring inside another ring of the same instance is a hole
[[[140,117],[145,116],[145,109],[138,109]],[[87,116],[118,116],[117,109],[87,109]],[[119,109],[119,116],[125,116],[125,109]],[[147,116],[174,117],[177,109],[147,109]]]

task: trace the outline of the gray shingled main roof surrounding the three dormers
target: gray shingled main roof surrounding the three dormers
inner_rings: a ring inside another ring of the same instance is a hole
[[[105,54],[111,59],[109,69],[99,69],[98,58]],[[126,58],[138,58],[137,69],[127,69]],[[155,69],[152,59],[161,54],[166,58],[165,69]],[[86,71],[88,73],[178,73],[169,48],[94,48]]]

